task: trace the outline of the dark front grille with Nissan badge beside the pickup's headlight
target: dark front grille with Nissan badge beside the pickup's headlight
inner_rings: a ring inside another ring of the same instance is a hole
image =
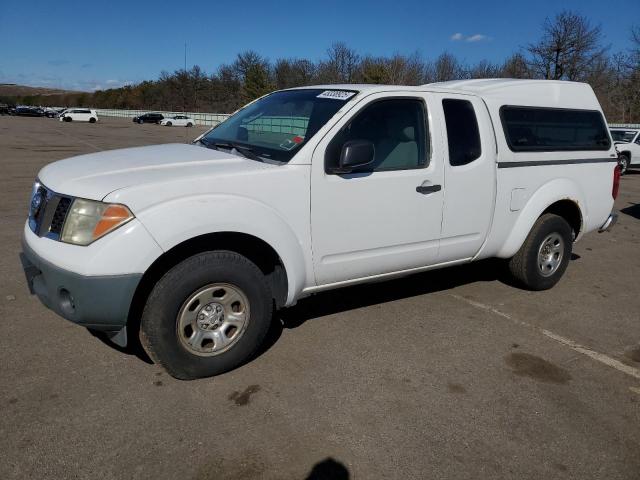
[[[39,237],[60,239],[73,198],[64,197],[37,183],[31,196],[29,228]]]

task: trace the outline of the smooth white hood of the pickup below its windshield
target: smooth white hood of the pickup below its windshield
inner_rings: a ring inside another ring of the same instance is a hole
[[[68,158],[47,165],[38,177],[55,192],[102,200],[109,193],[131,185],[271,168],[278,167],[218,150],[173,143]]]

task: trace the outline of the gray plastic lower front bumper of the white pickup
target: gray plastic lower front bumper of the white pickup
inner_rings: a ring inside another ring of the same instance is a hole
[[[69,272],[39,257],[24,242],[20,254],[32,294],[61,317],[102,330],[126,344],[129,307],[142,274],[89,277]]]

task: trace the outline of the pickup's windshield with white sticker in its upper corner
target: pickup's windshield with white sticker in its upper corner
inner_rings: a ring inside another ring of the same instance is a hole
[[[201,143],[211,148],[242,146],[260,157],[288,162],[356,93],[323,89],[275,92],[239,110],[202,137]]]

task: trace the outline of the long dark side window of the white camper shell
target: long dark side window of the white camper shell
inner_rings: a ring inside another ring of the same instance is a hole
[[[514,152],[608,150],[611,146],[604,118],[595,110],[504,106],[500,118]]]

